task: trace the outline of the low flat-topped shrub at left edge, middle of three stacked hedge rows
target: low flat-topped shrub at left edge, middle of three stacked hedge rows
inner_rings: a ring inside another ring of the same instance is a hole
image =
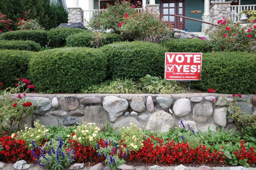
[[[34,41],[0,40],[0,49],[39,51],[41,49],[41,46]]]

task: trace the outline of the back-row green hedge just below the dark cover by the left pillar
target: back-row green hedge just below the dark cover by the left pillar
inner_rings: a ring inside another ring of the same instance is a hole
[[[79,28],[57,28],[51,29],[48,32],[49,47],[65,47],[66,38],[71,34],[77,34],[80,32],[91,32],[89,30]]]

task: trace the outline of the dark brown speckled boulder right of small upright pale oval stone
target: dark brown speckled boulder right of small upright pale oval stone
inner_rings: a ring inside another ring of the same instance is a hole
[[[62,97],[59,99],[59,104],[66,111],[75,110],[79,106],[79,99],[76,97]]]

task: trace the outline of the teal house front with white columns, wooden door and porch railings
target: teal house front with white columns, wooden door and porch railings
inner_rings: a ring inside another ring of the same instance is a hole
[[[194,20],[178,18],[171,16],[171,14],[213,22],[214,19],[210,18],[210,8],[213,8],[214,3],[227,3],[227,5],[230,5],[226,7],[226,11],[223,11],[223,15],[229,15],[232,17],[232,20],[239,21],[238,15],[242,9],[256,9],[255,0],[130,0],[134,5],[137,5],[137,1],[142,4],[142,6],[137,6],[137,8],[155,5],[157,9],[159,8],[164,21],[172,23],[173,28],[180,30],[187,29],[189,32],[204,32],[210,25]],[[230,1],[231,3],[228,3]],[[84,18],[83,24],[85,26],[87,25],[92,13],[96,12],[97,9],[104,9],[107,4],[114,5],[114,2],[115,0],[88,0],[88,9],[82,10]],[[77,3],[78,6],[78,0],[74,0],[74,4],[75,3]],[[229,7],[230,10],[228,9]],[[225,8],[221,8],[221,10],[225,10]],[[219,11],[220,13],[222,13],[221,10]]]

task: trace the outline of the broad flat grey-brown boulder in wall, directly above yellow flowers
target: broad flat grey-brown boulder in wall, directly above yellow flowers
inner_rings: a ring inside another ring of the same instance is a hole
[[[96,123],[100,131],[104,130],[109,121],[108,116],[104,113],[102,106],[91,106],[84,109],[83,122]]]

